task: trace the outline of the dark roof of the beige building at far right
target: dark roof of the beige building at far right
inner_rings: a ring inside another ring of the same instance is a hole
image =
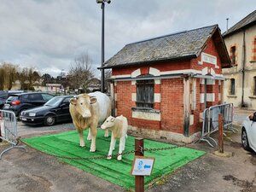
[[[250,24],[253,24],[253,22],[256,21],[256,10],[253,11],[253,13],[247,15],[245,18],[243,18],[242,20],[240,20],[238,23],[236,23],[235,26],[230,27],[230,29],[226,32],[224,32],[223,36],[226,37],[230,34],[232,34],[233,32],[238,31],[239,29],[246,27]]]

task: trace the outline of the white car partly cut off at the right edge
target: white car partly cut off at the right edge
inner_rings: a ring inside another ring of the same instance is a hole
[[[256,152],[256,112],[247,116],[241,127],[241,145],[250,151]]]

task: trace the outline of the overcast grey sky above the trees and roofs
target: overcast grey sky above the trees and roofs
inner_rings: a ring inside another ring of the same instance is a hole
[[[96,0],[0,2],[0,62],[57,76],[87,52],[100,67],[102,9]],[[147,38],[213,24],[224,32],[226,18],[233,26],[255,9],[255,0],[112,0],[105,7],[105,61]]]

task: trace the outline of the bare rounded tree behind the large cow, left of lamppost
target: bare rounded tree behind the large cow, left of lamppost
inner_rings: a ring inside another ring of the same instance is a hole
[[[88,53],[81,54],[74,59],[68,73],[71,88],[81,88],[86,92],[90,79],[94,77],[91,66],[92,60]]]

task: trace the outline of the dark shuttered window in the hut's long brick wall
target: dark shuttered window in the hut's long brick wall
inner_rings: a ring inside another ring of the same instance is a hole
[[[154,108],[154,79],[137,80],[137,107]]]

